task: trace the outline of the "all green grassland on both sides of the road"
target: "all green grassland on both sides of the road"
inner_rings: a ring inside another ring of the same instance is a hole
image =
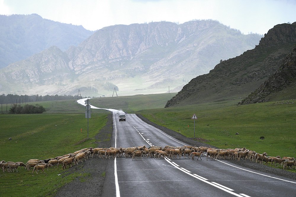
[[[174,93],[91,99],[101,108],[140,113],[149,120],[219,148],[246,147],[269,156],[296,157],[296,100],[237,106],[238,100],[163,108]],[[36,104],[36,103],[29,103]],[[73,100],[38,102],[43,114],[0,114],[0,160],[27,162],[46,159],[96,146],[94,136],[106,123],[106,110],[92,110],[89,139],[85,108]],[[83,132],[81,133],[81,128]],[[239,135],[235,135],[239,133]],[[260,139],[264,136],[264,139]],[[12,140],[8,140],[11,137]],[[1,196],[52,196],[57,188],[88,172],[59,176],[61,168],[46,174],[32,174],[23,168],[18,173],[0,171]],[[295,170],[293,170],[295,172]]]

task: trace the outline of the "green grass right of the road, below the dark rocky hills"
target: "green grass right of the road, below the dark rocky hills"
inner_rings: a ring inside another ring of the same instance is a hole
[[[219,148],[246,147],[269,156],[296,157],[296,102],[237,106],[238,101],[141,110],[150,121]],[[287,104],[286,104],[287,103]],[[189,126],[189,127],[188,127]],[[239,133],[239,135],[235,135]],[[264,140],[260,140],[264,136]]]

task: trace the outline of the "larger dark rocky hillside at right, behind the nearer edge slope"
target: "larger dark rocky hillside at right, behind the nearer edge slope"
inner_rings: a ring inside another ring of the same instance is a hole
[[[295,43],[296,22],[276,25],[254,49],[192,79],[165,107],[247,97],[275,73]]]

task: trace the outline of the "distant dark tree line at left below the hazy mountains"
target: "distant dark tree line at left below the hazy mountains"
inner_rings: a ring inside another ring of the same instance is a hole
[[[86,97],[83,97],[86,98]],[[53,101],[53,100],[76,100],[77,96],[72,95],[0,95],[0,103],[27,103],[36,101]],[[80,97],[78,99],[81,99]]]

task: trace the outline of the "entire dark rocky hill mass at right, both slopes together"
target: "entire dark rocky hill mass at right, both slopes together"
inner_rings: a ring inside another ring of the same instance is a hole
[[[165,107],[245,97],[240,104],[295,99],[295,44],[296,22],[276,25],[254,49],[192,79]]]

